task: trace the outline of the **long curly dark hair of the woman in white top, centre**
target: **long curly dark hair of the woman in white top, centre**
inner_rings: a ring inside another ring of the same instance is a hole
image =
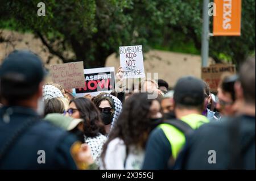
[[[154,100],[156,99],[148,99],[147,92],[134,93],[126,100],[121,115],[103,146],[101,155],[103,161],[108,144],[115,138],[121,138],[126,148],[131,145],[145,148],[151,128],[150,107]]]

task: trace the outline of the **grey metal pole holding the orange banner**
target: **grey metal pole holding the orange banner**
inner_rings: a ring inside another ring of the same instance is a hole
[[[201,47],[201,58],[202,66],[208,66],[209,57],[209,15],[208,15],[209,0],[203,2],[203,31],[202,31],[202,47]]]

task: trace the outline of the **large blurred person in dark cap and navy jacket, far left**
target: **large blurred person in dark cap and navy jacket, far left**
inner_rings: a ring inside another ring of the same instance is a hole
[[[86,169],[88,145],[42,121],[44,69],[27,50],[14,50],[0,68],[0,169]],[[43,164],[42,164],[43,163]]]

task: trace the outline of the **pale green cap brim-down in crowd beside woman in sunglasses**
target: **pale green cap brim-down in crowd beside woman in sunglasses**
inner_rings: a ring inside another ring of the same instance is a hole
[[[60,113],[49,113],[44,120],[67,131],[76,128],[77,125],[83,121],[82,119],[73,119],[72,117],[61,115]]]

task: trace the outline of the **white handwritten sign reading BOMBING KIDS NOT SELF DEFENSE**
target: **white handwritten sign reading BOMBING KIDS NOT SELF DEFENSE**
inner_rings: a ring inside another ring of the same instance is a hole
[[[124,73],[123,78],[144,78],[144,64],[142,45],[119,47],[120,65]]]

